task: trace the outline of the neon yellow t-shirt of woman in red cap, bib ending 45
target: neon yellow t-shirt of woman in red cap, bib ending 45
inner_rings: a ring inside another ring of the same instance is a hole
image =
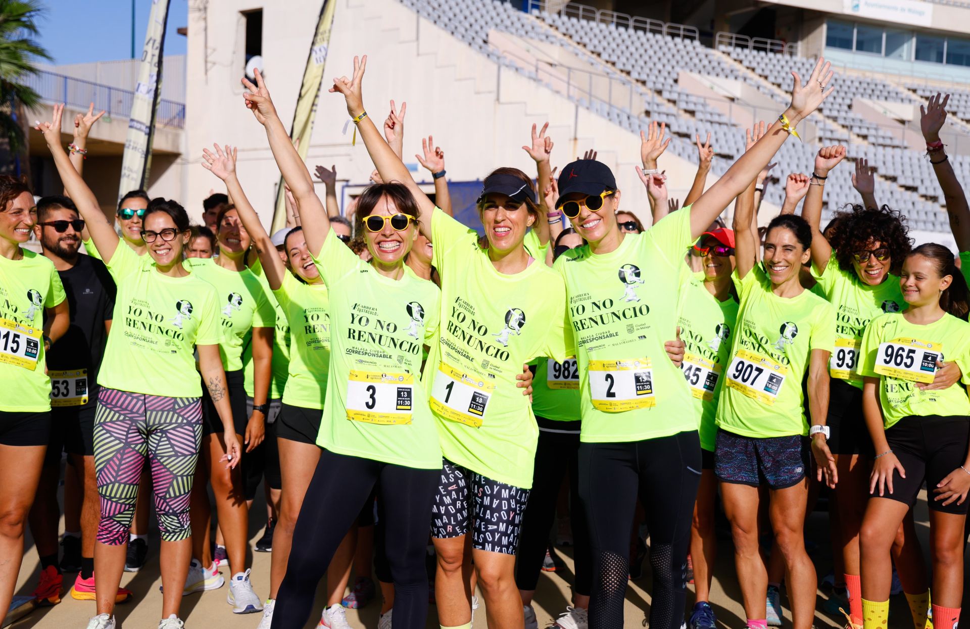
[[[685,345],[682,368],[699,418],[700,447],[711,452],[718,432],[714,417],[730,360],[737,310],[734,297],[718,301],[704,286],[704,274],[691,273],[684,266],[678,317],[680,340]]]

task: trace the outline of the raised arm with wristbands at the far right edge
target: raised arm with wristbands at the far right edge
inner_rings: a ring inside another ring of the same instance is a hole
[[[947,121],[949,100],[950,94],[942,98],[937,94],[929,99],[925,107],[921,105],[920,127],[926,141],[929,163],[933,165],[936,180],[943,189],[943,200],[947,205],[947,214],[950,215],[950,229],[954,232],[956,247],[961,251],[970,251],[970,207],[967,206],[963,186],[956,179],[947,149],[940,142],[940,129]]]

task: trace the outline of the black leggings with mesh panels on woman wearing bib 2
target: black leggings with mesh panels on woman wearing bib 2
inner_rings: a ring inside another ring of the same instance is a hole
[[[590,629],[622,629],[637,496],[650,529],[651,629],[684,622],[687,551],[700,482],[697,432],[620,444],[580,444],[579,497],[593,546]]]

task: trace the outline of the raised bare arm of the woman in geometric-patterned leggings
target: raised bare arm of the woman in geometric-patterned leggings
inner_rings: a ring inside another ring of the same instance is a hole
[[[74,169],[67,153],[60,146],[60,125],[61,116],[64,115],[63,105],[54,105],[53,119],[50,122],[42,122],[36,128],[44,134],[44,139],[48,143],[50,155],[53,157],[54,165],[57,167],[57,174],[64,182],[64,190],[71,200],[78,206],[78,212],[84,219],[87,231],[94,241],[94,246],[101,253],[101,259],[107,264],[114,255],[114,249],[118,246],[118,235],[114,232],[108,216],[101,212],[97,197],[87,187],[81,174]]]

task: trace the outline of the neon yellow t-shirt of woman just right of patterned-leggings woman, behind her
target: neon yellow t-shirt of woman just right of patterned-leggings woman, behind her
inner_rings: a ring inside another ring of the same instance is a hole
[[[222,368],[227,372],[241,370],[242,344],[246,335],[254,327],[275,328],[276,325],[276,311],[266,285],[249,269],[230,271],[220,267],[212,258],[187,258],[183,265],[219,291]]]

